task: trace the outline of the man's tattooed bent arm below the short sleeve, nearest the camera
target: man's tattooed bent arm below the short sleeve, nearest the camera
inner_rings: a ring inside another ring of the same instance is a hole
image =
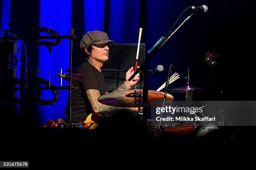
[[[100,102],[98,102],[97,99],[98,99],[98,97],[100,97],[99,90],[89,89],[89,90],[86,90],[86,94],[87,94],[87,97],[92,106],[92,110],[96,113],[97,112],[105,113],[105,112],[111,112],[111,111],[115,111],[115,110],[125,109],[123,107],[113,107],[113,106],[103,105]]]

